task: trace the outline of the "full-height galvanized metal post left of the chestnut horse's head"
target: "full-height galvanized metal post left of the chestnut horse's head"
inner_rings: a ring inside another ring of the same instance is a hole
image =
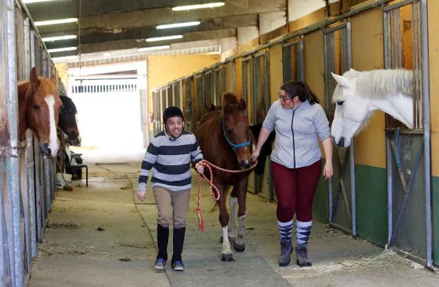
[[[8,55],[8,115],[9,115],[9,133],[11,135],[11,157],[8,158],[9,171],[9,196],[11,196],[11,211],[13,217],[10,219],[12,223],[11,237],[13,241],[9,241],[13,247],[13,285],[23,285],[23,257],[21,244],[21,230],[20,230],[20,168],[18,155],[18,88],[17,88],[17,46],[15,35],[15,2],[7,0],[6,11],[6,26],[7,26],[7,55]]]

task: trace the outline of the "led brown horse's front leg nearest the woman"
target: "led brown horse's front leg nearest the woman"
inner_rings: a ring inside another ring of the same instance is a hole
[[[236,195],[238,196],[238,219],[239,228],[238,236],[236,236],[234,242],[234,248],[238,252],[242,252],[246,249],[246,218],[247,218],[247,208],[246,208],[246,196],[247,196],[247,185],[248,178],[243,178],[236,185]]]

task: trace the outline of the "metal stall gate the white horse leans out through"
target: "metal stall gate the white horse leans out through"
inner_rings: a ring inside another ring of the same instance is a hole
[[[386,115],[388,245],[431,266],[426,4],[401,1],[383,13],[385,67],[412,69],[414,76],[414,128]]]

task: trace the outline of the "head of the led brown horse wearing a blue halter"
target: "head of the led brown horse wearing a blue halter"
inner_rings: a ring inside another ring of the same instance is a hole
[[[225,93],[223,96],[222,125],[224,138],[238,159],[243,169],[253,165],[251,138],[248,124],[246,101],[238,100],[236,95]]]

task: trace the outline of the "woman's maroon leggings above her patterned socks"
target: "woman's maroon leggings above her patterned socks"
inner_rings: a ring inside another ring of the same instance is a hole
[[[322,172],[322,160],[303,168],[286,168],[272,161],[272,178],[277,196],[277,220],[312,220],[312,201]]]

